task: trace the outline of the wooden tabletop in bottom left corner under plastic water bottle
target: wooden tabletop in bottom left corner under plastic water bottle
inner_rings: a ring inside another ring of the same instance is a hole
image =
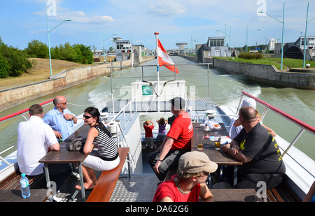
[[[0,202],[45,202],[52,190],[31,189],[31,196],[23,199],[20,189],[0,189]]]

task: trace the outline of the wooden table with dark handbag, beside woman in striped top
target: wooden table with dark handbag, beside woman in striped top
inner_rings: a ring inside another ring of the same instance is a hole
[[[75,131],[71,136],[66,138],[62,143],[60,143],[60,150],[59,151],[50,151],[48,154],[45,155],[42,159],[39,160],[40,163],[45,164],[45,177],[47,182],[47,187],[50,189],[50,178],[49,178],[49,171],[48,171],[48,164],[71,164],[76,163],[78,164],[78,170],[80,174],[80,185],[81,185],[81,194],[82,199],[85,201],[85,188],[83,182],[83,172],[82,172],[82,162],[87,157],[87,154],[82,154],[78,151],[69,151],[68,150],[68,143],[71,141],[72,138],[77,136],[82,136],[83,138],[87,138],[87,133],[90,130],[90,127],[84,124],[80,127],[77,131]]]

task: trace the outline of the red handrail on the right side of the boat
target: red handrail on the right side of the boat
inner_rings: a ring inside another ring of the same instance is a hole
[[[294,122],[295,124],[300,125],[300,127],[303,127],[304,129],[307,129],[307,131],[315,134],[315,127],[312,127],[311,125],[302,122],[301,120],[298,120],[296,117],[293,117],[292,115],[289,115],[288,113],[283,112],[282,110],[279,110],[278,108],[275,108],[274,106],[270,105],[269,103],[266,103],[265,101],[262,101],[255,96],[248,94],[247,92],[241,92],[242,94],[251,97],[255,101],[258,101],[258,103],[262,104],[263,106],[269,108],[270,110],[273,110],[275,113],[282,115],[286,119],[290,120],[291,122]]]

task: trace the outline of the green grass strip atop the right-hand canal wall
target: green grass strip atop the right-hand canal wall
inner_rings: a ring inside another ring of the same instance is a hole
[[[242,59],[238,57],[214,57],[214,59],[224,59],[232,62],[244,62],[251,64],[270,64],[276,66],[277,69],[281,69],[281,58],[262,58],[262,59]],[[305,61],[305,64],[310,64],[311,68],[315,68],[315,64],[312,61]],[[283,58],[283,69],[288,68],[302,68],[302,59],[287,59]]]

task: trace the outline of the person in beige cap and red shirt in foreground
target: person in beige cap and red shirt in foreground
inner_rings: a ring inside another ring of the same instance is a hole
[[[187,152],[179,159],[179,170],[172,180],[161,183],[153,202],[214,201],[205,183],[208,175],[218,168],[204,152]]]

